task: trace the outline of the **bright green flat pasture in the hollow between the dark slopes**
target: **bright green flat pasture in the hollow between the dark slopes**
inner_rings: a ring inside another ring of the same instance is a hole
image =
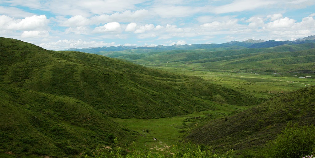
[[[183,116],[160,119],[121,119],[111,118],[116,123],[139,133],[135,145],[138,149],[154,149],[178,143],[195,127],[202,126],[207,120],[225,119],[249,106],[217,105],[215,110],[195,112]],[[154,138],[156,140],[154,140]]]

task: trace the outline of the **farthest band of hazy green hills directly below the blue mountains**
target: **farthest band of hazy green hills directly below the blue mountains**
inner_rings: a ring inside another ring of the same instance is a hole
[[[166,63],[166,62],[185,62],[201,63],[211,62],[212,59],[238,59],[244,56],[254,57],[255,55],[272,53],[272,52],[294,52],[315,48],[314,43],[281,45],[273,48],[236,48],[228,47],[224,49],[197,49],[197,50],[170,50],[164,52],[142,53],[138,55],[119,56],[135,63]],[[224,58],[223,58],[224,57]],[[231,58],[232,57],[232,58]]]

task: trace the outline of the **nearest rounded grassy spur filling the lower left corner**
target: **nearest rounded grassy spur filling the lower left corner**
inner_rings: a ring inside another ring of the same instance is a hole
[[[75,98],[0,84],[0,152],[64,157],[112,146],[132,132]]]

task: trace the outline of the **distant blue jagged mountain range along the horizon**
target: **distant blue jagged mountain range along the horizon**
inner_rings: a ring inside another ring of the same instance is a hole
[[[179,45],[174,44],[172,46],[164,46],[164,45],[157,45],[154,47],[136,47],[136,46],[111,46],[111,47],[89,47],[89,48],[71,48],[64,51],[80,51],[86,53],[97,53],[101,51],[123,51],[123,50],[195,50],[195,49],[211,49],[211,48],[227,48],[227,47],[245,47],[245,48],[270,48],[275,47],[283,44],[303,44],[303,43],[315,43],[315,36],[308,36],[305,38],[299,38],[294,41],[275,41],[275,40],[253,40],[248,39],[243,42],[239,41],[231,41],[223,44],[185,44]]]

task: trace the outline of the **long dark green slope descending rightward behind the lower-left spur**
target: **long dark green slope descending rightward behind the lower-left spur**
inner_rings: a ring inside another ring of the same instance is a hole
[[[121,118],[160,118],[213,109],[213,98],[249,105],[251,96],[105,56],[55,52],[14,39],[1,38],[1,78],[4,84],[73,97],[99,112]],[[235,101],[234,97],[243,98]],[[221,102],[221,101],[220,101]]]

